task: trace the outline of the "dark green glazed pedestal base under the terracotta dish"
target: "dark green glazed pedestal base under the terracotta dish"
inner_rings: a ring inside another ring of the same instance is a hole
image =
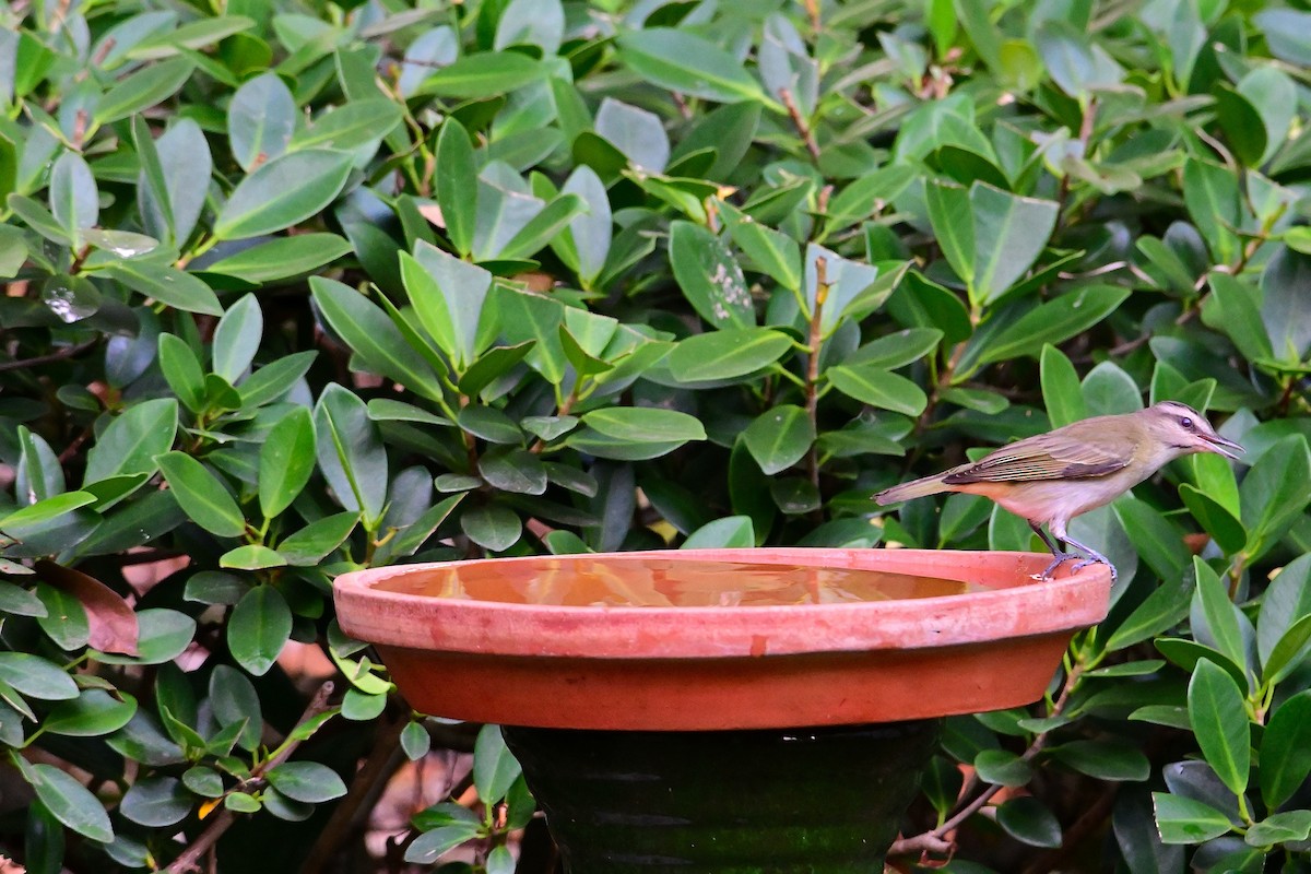
[[[880,874],[940,726],[503,731],[569,874]]]

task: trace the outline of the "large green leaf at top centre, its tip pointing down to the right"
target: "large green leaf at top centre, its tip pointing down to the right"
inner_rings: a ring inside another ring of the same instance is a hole
[[[646,81],[721,104],[772,102],[737,59],[687,30],[646,28],[619,38],[620,59]]]

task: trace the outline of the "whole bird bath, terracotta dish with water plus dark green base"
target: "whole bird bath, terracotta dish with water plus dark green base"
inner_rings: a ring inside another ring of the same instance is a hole
[[[417,710],[497,722],[570,874],[881,871],[941,717],[1040,698],[1109,570],[712,549],[336,582]]]

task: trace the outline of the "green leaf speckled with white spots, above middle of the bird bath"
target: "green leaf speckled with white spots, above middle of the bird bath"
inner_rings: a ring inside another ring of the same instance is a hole
[[[691,221],[674,221],[669,259],[683,295],[701,318],[716,328],[755,325],[742,267],[720,237]]]

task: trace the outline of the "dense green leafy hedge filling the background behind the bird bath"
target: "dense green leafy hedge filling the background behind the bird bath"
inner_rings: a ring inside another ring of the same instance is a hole
[[[906,833],[960,826],[968,874],[1311,867],[1304,0],[0,22],[0,841],[29,871],[358,858],[358,760],[471,735],[337,630],[342,570],[1030,549],[983,499],[869,495],[1162,398],[1247,455],[1074,524],[1110,617],[1045,702],[949,721]],[[514,870],[532,802],[475,746],[486,803],[421,814],[409,861]]]

